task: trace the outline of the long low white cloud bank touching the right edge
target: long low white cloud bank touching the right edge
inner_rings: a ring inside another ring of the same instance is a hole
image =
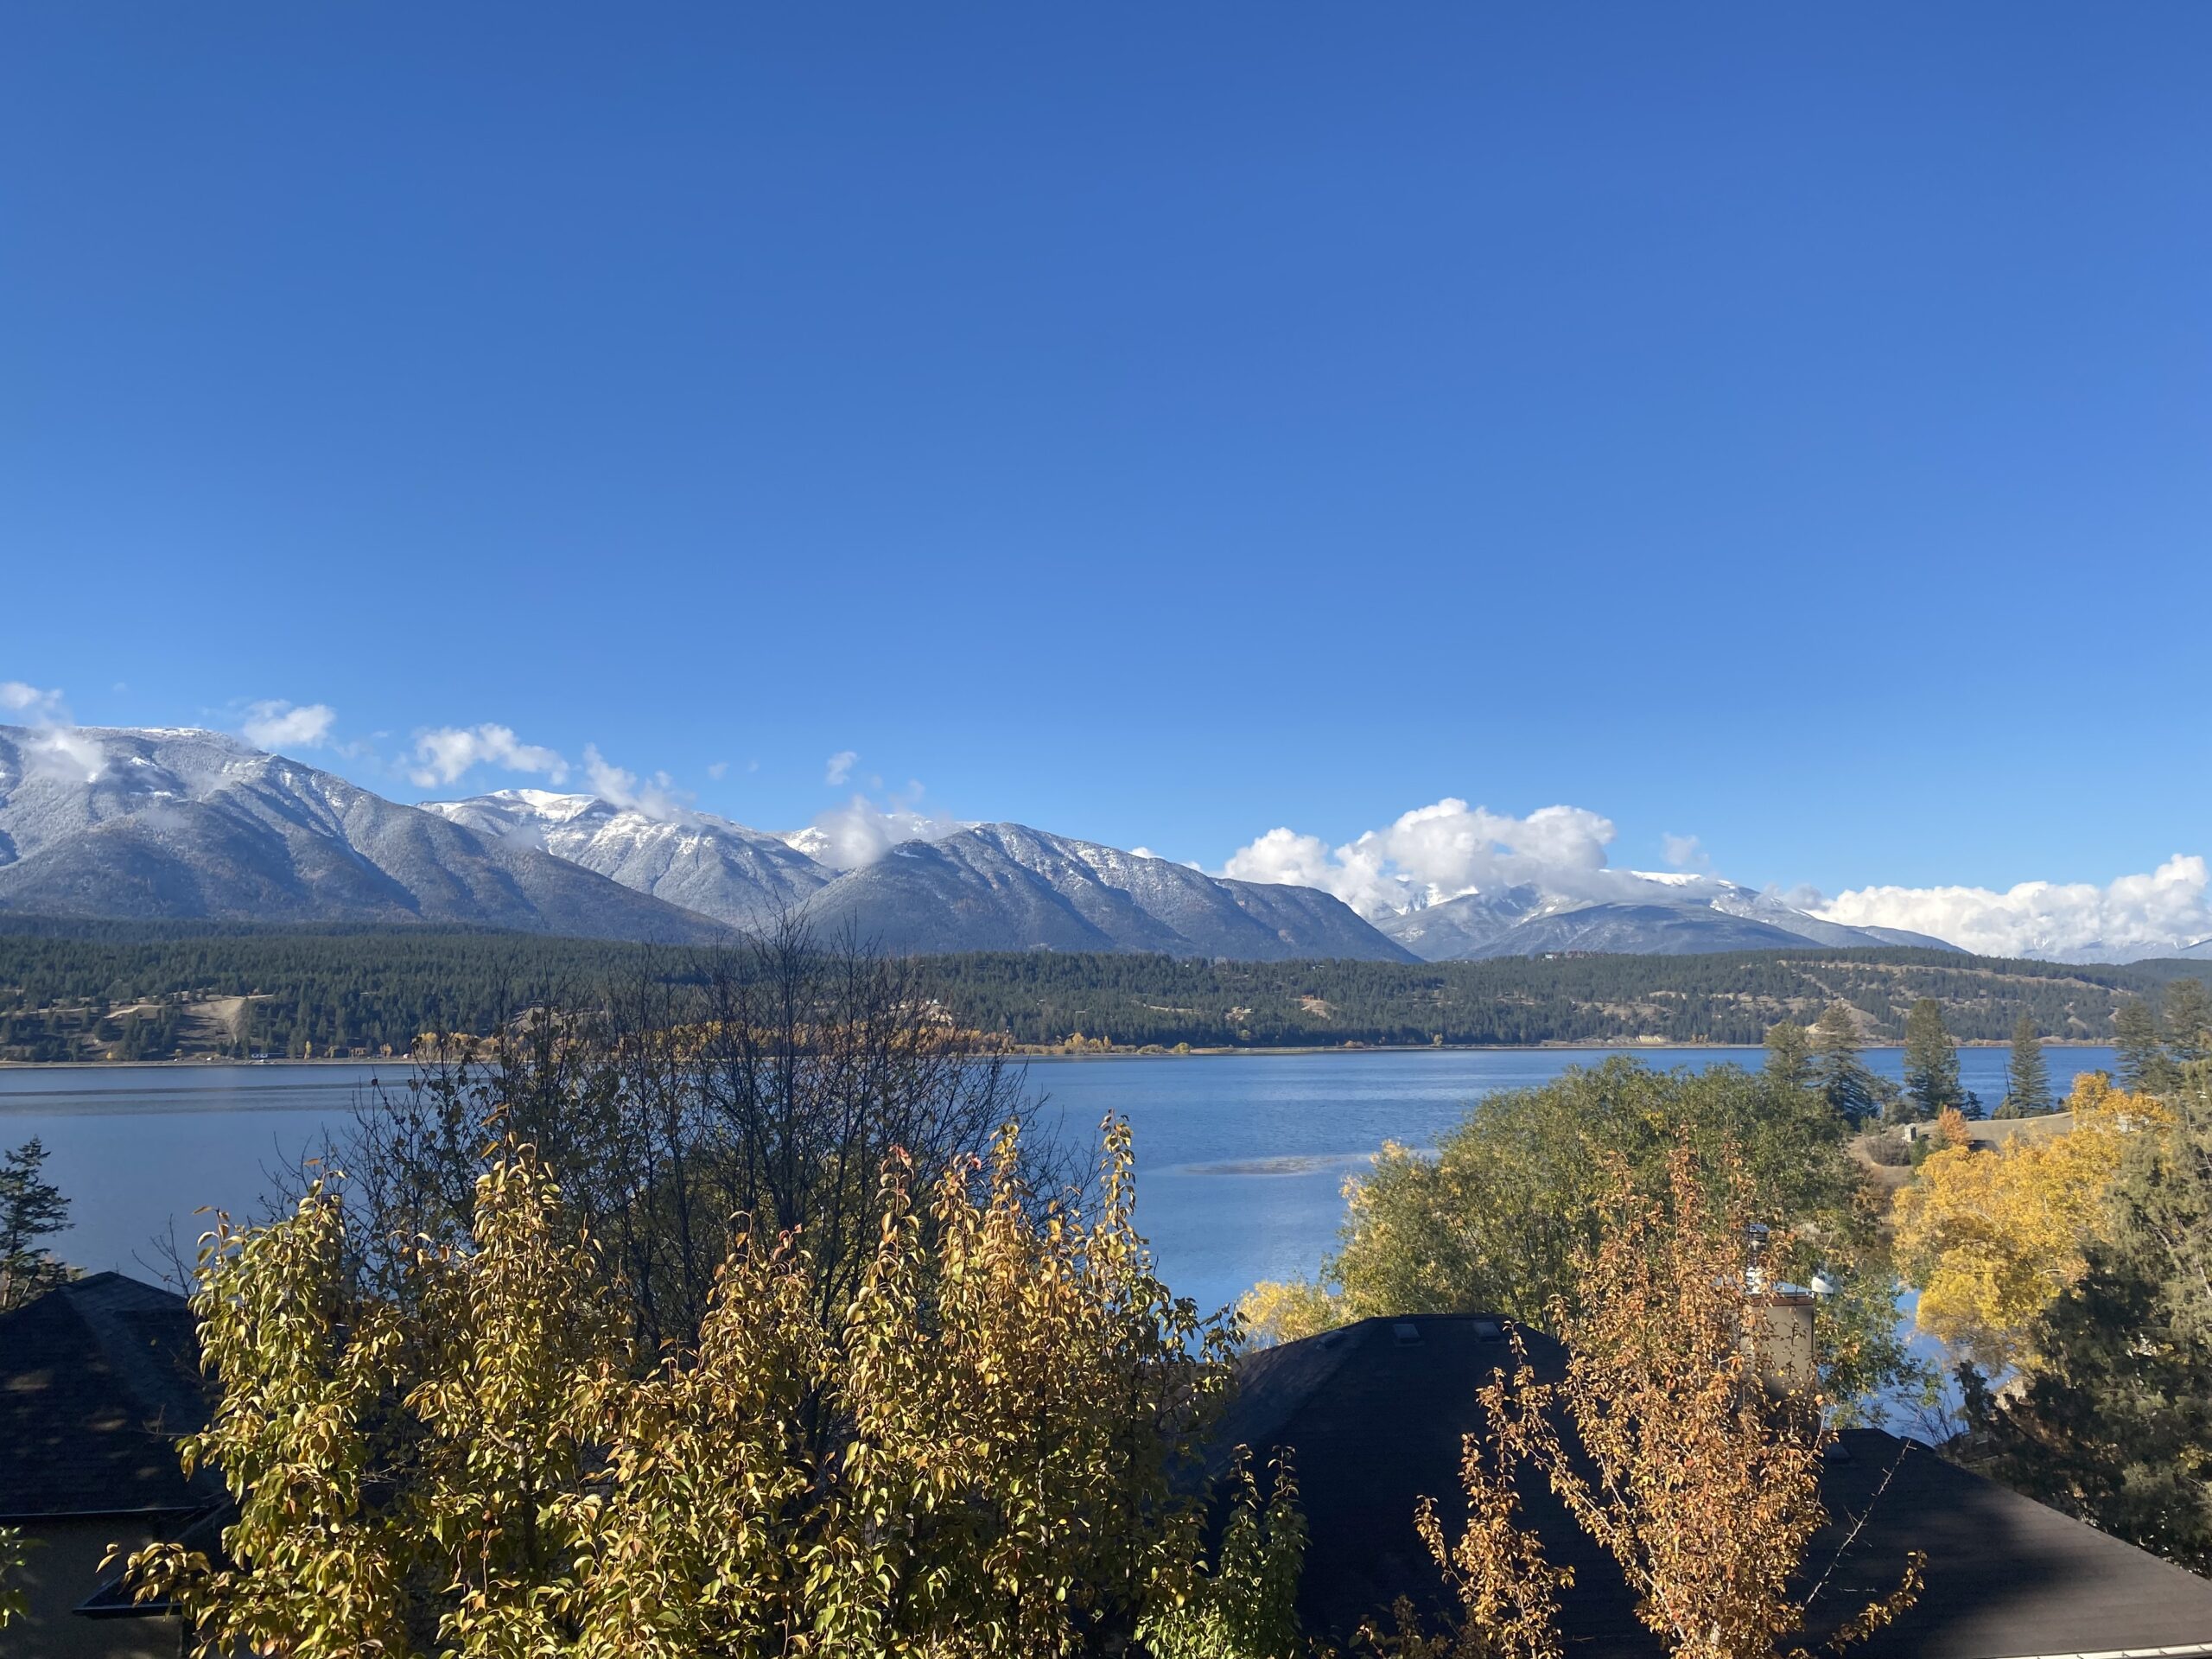
[[[2130,960],[2212,938],[2208,872],[2174,854],[2148,876],[1989,887],[1858,887],[1816,916],[1851,927],[1909,927],[1982,956]]]

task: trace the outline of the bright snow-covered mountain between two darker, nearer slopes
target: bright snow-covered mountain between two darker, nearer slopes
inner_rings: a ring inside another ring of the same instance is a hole
[[[593,794],[546,790],[495,790],[422,810],[732,927],[774,920],[834,878],[785,838],[706,812],[653,818]]]

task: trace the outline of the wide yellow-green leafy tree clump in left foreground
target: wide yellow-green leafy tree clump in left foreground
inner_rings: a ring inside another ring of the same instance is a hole
[[[420,1241],[398,1294],[363,1290],[358,1217],[316,1186],[208,1243],[192,1307],[221,1396],[184,1455],[237,1520],[221,1557],[161,1544],[131,1579],[204,1655],[1121,1646],[1252,1562],[1203,1571],[1228,1332],[1155,1276],[1126,1128],[1097,1192],[1031,1190],[1013,1128],[920,1192],[891,1157],[834,1318],[805,1234],[748,1223],[695,1340],[641,1356],[533,1148],[498,1150],[467,1239]],[[1285,1504],[1256,1546],[1274,1571]]]

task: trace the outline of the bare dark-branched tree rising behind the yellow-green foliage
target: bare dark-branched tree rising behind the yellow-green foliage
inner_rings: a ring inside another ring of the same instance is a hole
[[[544,987],[491,1040],[434,1040],[418,1060],[323,1152],[365,1212],[363,1267],[396,1283],[389,1241],[465,1239],[511,1137],[591,1230],[644,1354],[697,1336],[730,1217],[805,1232],[830,1321],[872,1261],[883,1159],[940,1170],[1033,1115],[998,1046],[951,1024],[911,960],[790,918],[730,951]],[[1026,1146],[1051,1159],[1042,1137]]]

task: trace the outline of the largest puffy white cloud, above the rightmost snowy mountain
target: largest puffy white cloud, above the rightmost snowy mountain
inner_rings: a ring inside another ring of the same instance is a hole
[[[1321,887],[1365,916],[1522,883],[1606,898],[1635,885],[1628,872],[1606,867],[1613,834],[1613,821],[1586,807],[1540,807],[1515,818],[1447,796],[1340,847],[1270,830],[1230,854],[1221,874]]]

